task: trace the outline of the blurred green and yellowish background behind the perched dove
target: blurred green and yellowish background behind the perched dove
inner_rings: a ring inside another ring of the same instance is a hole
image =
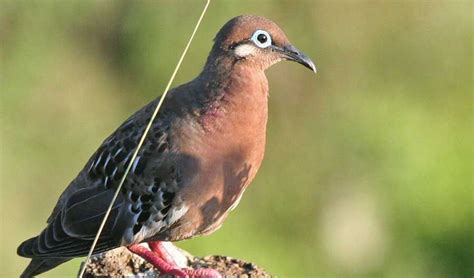
[[[0,276],[102,140],[160,94],[204,1],[0,3]],[[179,243],[280,277],[471,277],[471,1],[214,1],[176,84],[217,30],[277,22],[318,66],[267,72],[268,143],[242,202]],[[79,260],[44,277],[73,277]]]

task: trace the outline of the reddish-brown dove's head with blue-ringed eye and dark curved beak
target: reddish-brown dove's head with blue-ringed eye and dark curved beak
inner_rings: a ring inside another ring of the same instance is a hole
[[[260,16],[241,15],[229,20],[217,33],[213,52],[262,70],[290,60],[316,72],[313,61],[290,43],[280,27]]]

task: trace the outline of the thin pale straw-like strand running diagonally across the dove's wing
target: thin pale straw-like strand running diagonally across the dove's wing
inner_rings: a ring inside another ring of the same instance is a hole
[[[188,52],[188,48],[191,45],[191,41],[193,40],[194,35],[196,34],[196,32],[199,28],[199,25],[201,24],[201,21],[204,17],[204,14],[207,11],[207,7],[209,6],[210,2],[211,2],[211,0],[207,0],[206,6],[204,6],[204,9],[201,13],[201,16],[199,17],[199,20],[197,21],[196,26],[194,27],[193,33],[191,34],[191,37],[189,38],[188,44],[184,48],[184,51],[181,54],[181,57],[179,58],[178,64],[176,65],[176,68],[174,69],[174,72],[171,75],[171,78],[168,81],[168,84],[166,85],[166,88],[165,88],[163,94],[161,95],[160,101],[156,105],[155,111],[153,112],[153,115],[151,116],[150,121],[148,122],[148,125],[146,126],[145,131],[143,132],[143,135],[140,139],[140,142],[138,143],[137,148],[135,149],[135,152],[133,153],[133,156],[132,156],[132,159],[130,160],[130,163],[128,163],[127,169],[125,170],[125,173],[123,174],[122,179],[120,180],[120,183],[117,187],[117,190],[115,191],[114,197],[112,198],[112,201],[110,202],[110,205],[107,208],[107,211],[104,215],[104,219],[102,220],[102,223],[100,224],[99,230],[97,231],[97,234],[94,238],[94,241],[92,242],[92,246],[91,246],[91,249],[89,250],[89,254],[87,255],[86,261],[84,262],[84,265],[81,269],[81,272],[79,273],[79,276],[78,276],[79,278],[82,278],[82,276],[84,275],[84,272],[86,270],[86,266],[89,263],[89,260],[92,256],[92,253],[94,252],[94,248],[97,245],[97,241],[99,240],[100,234],[102,233],[102,230],[104,229],[105,223],[107,222],[107,218],[109,217],[109,214],[112,210],[112,207],[115,203],[115,200],[117,199],[118,194],[120,193],[120,189],[122,188],[123,183],[125,182],[125,179],[127,178],[127,175],[130,172],[130,169],[132,168],[132,164],[135,161],[135,158],[137,157],[138,152],[140,151],[140,148],[143,145],[143,142],[145,141],[145,138],[148,134],[148,131],[151,128],[151,125],[153,124],[153,121],[156,118],[156,115],[158,115],[158,111],[160,111],[161,105],[163,104],[163,101],[164,101],[166,95],[168,94],[168,90],[170,89],[171,84],[173,83],[173,80],[176,76],[176,73],[178,72],[179,67],[181,66],[181,63],[183,62],[184,56],[186,56],[186,53]]]

